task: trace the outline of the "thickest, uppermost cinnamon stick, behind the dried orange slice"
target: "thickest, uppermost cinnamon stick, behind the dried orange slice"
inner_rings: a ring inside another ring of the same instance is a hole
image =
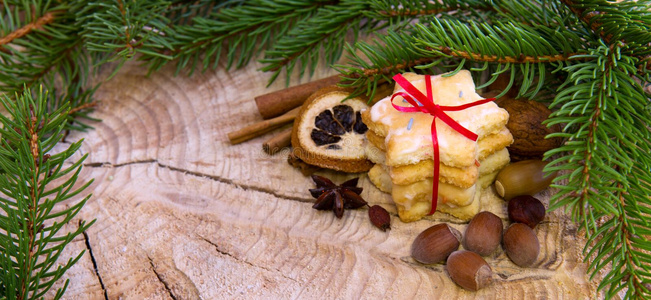
[[[316,90],[334,85],[339,82],[339,75],[330,76],[293,86],[284,90],[271,92],[255,97],[255,104],[263,119],[269,119],[282,115],[292,108],[301,106],[305,100],[316,92]]]

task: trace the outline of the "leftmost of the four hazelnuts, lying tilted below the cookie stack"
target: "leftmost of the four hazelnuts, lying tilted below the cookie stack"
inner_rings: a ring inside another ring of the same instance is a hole
[[[461,233],[448,224],[436,224],[421,232],[411,245],[411,257],[424,264],[445,261],[459,248]]]

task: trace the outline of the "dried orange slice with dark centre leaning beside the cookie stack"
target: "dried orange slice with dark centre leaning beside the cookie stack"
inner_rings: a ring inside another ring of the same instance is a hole
[[[310,165],[348,173],[366,172],[373,166],[364,151],[368,127],[361,116],[368,105],[362,98],[343,101],[348,95],[345,89],[326,87],[305,101],[292,129],[297,157]]]

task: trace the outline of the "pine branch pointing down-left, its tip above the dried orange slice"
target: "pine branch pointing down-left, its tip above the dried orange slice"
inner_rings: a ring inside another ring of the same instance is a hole
[[[274,72],[270,83],[282,69],[287,76],[300,64],[299,76],[309,67],[310,75],[318,63],[315,53],[323,50],[327,64],[334,64],[343,52],[346,33],[353,31],[353,42],[358,32],[372,33],[389,27],[401,29],[414,20],[432,19],[434,15],[459,11],[460,9],[488,9],[485,1],[341,1],[336,6],[327,6],[282,37],[276,46],[268,50],[261,62],[267,64],[262,71]]]

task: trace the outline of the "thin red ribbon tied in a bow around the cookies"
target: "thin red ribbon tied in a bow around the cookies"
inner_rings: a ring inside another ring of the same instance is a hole
[[[433,182],[434,184],[432,185],[432,209],[430,210],[429,214],[434,214],[436,211],[436,204],[437,204],[437,199],[439,195],[439,142],[438,142],[438,137],[436,135],[436,118],[440,118],[441,121],[445,122],[448,126],[450,126],[452,129],[456,130],[457,132],[461,133],[463,136],[467,137],[468,139],[472,141],[477,141],[477,134],[474,132],[466,129],[465,127],[461,126],[461,124],[457,123],[454,119],[452,119],[450,116],[445,114],[445,111],[460,111],[464,110],[466,108],[470,108],[473,106],[481,105],[484,103],[491,102],[495,100],[495,98],[488,98],[484,100],[479,100],[459,106],[444,106],[444,105],[438,105],[434,103],[434,100],[432,98],[432,79],[430,75],[425,75],[425,88],[427,90],[427,96],[423,95],[421,91],[419,91],[416,87],[414,87],[407,79],[402,77],[400,74],[396,74],[393,76],[393,80],[396,81],[407,93],[404,92],[397,92],[391,96],[391,105],[393,107],[401,112],[423,112],[430,114],[434,117],[432,120],[432,147],[434,148],[434,178]],[[393,99],[397,96],[401,96],[404,98],[409,104],[412,105],[412,107],[405,107],[405,106],[398,106],[395,103],[393,103]],[[416,98],[418,102],[414,100]],[[421,105],[419,105],[419,102]]]

